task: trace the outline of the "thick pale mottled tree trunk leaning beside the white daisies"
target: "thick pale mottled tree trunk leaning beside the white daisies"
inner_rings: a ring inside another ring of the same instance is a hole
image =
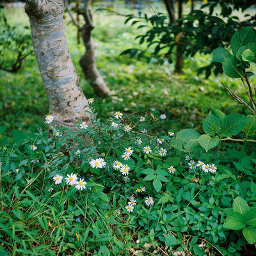
[[[79,86],[63,28],[63,0],[25,0],[36,61],[54,124],[76,130],[90,122],[88,102]]]

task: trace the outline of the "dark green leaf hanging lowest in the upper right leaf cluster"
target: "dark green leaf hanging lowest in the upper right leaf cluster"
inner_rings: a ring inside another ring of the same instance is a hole
[[[243,77],[243,68],[239,65],[239,61],[233,55],[228,55],[223,63],[223,70],[229,77],[240,78]]]

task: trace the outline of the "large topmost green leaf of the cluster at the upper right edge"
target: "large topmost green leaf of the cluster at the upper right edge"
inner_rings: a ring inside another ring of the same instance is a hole
[[[242,45],[253,43],[255,41],[256,36],[255,32],[253,31],[253,27],[245,27],[238,29],[236,33],[234,33],[230,41],[233,54],[236,54],[239,47],[241,47]]]

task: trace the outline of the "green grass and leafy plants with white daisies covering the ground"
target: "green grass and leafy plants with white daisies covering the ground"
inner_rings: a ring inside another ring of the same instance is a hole
[[[181,76],[169,74],[172,65],[121,58],[133,30],[112,17],[118,26],[106,16],[94,36],[112,95],[97,98],[82,80],[92,124],[54,125],[33,56],[17,75],[1,73],[1,254],[253,255],[255,117],[227,93],[250,104],[246,88],[196,76],[195,62],[214,56],[186,60]],[[249,48],[237,60],[253,72]],[[230,58],[220,51],[220,63]]]

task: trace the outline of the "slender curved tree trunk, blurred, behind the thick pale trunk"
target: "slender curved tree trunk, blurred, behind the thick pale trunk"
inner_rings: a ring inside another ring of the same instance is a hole
[[[104,82],[102,76],[100,76],[99,70],[96,66],[97,52],[95,42],[93,42],[92,38],[93,22],[91,13],[91,0],[84,0],[84,8],[81,12],[81,15],[83,15],[85,20],[85,24],[81,28],[81,31],[84,45],[86,47],[86,52],[82,56],[79,63],[83,69],[84,76],[91,84],[94,92],[99,97],[104,97],[109,94],[109,88]]]

